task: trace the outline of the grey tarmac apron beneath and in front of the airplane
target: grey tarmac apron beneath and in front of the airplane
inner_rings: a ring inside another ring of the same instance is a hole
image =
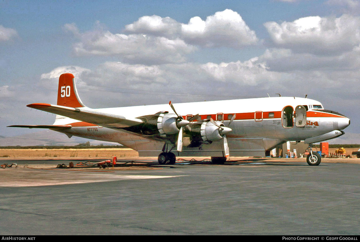
[[[231,159],[1,159],[0,234],[360,234],[360,159]]]

